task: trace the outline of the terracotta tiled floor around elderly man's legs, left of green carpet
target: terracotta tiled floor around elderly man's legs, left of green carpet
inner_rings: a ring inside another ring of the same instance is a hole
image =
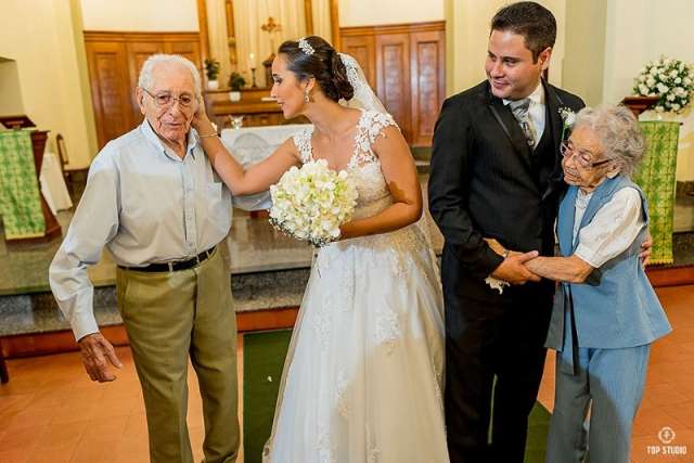
[[[116,350],[124,368],[107,384],[89,380],[78,353],[8,361],[11,381],[0,386],[0,462],[149,462],[130,349]],[[241,374],[242,363],[240,337]],[[195,461],[202,461],[202,402],[192,369],[189,384],[188,426]]]

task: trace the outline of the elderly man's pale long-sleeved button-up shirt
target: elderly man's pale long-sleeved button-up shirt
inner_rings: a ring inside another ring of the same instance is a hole
[[[234,197],[233,204],[268,208],[270,195]],[[91,164],[85,193],[49,269],[51,290],[75,337],[99,331],[87,267],[100,260],[104,246],[117,265],[127,267],[191,258],[227,236],[231,210],[231,194],[194,130],[183,158],[146,119],[108,142]]]

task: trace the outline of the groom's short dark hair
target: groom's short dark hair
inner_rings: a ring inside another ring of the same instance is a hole
[[[519,1],[502,8],[491,18],[491,31],[511,31],[523,36],[532,61],[545,49],[554,47],[556,20],[550,10],[534,1]]]

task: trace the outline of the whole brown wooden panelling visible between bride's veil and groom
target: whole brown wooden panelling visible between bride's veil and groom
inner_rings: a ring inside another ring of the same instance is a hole
[[[340,50],[359,62],[411,145],[432,144],[446,97],[445,29],[442,21],[340,29]]]

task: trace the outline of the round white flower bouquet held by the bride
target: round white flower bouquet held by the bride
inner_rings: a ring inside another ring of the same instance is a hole
[[[329,169],[325,159],[292,167],[270,187],[270,223],[317,247],[339,237],[339,226],[357,205],[354,181],[345,171]]]

